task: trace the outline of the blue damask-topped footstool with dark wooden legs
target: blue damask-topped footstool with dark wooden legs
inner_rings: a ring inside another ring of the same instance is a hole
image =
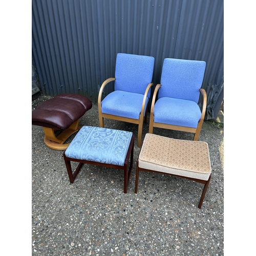
[[[82,126],[63,153],[70,182],[73,183],[83,163],[124,170],[123,192],[127,193],[133,167],[134,135],[131,132]],[[131,155],[130,166],[128,166]],[[75,172],[71,161],[79,162]]]

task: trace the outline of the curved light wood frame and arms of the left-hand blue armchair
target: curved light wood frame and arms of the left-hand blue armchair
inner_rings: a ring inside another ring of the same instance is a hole
[[[138,147],[141,146],[141,138],[142,138],[142,129],[143,129],[143,120],[146,123],[147,120],[147,105],[145,106],[145,102],[146,102],[146,96],[148,91],[150,90],[150,88],[154,85],[153,83],[149,83],[145,94],[144,94],[144,98],[143,98],[143,102],[142,102],[142,106],[141,106],[141,112],[140,112],[140,116],[139,119],[132,119],[132,118],[127,118],[127,117],[121,117],[121,116],[115,116],[115,115],[110,115],[110,114],[104,114],[102,113],[102,109],[101,109],[101,98],[102,98],[102,93],[104,90],[104,87],[106,86],[106,84],[108,84],[111,81],[115,81],[116,78],[108,78],[106,79],[100,88],[99,91],[99,96],[98,96],[98,112],[99,112],[99,126],[100,127],[104,127],[104,118],[109,118],[109,119],[114,119],[114,120],[119,120],[119,121],[123,121],[123,122],[129,122],[129,123],[136,123],[139,125],[138,127]],[[144,118],[144,110],[146,108],[146,112],[145,112],[145,118]]]

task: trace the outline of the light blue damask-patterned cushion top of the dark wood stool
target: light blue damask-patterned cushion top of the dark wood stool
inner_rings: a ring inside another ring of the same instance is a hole
[[[133,133],[94,126],[82,126],[65,155],[79,160],[124,165]]]

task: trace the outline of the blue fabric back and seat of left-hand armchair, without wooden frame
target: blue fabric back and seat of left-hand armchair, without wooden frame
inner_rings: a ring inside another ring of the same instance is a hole
[[[115,91],[101,101],[102,113],[139,119],[143,97],[152,82],[155,58],[118,53],[116,58]],[[147,93],[145,106],[150,100]],[[146,108],[144,109],[144,115]]]

